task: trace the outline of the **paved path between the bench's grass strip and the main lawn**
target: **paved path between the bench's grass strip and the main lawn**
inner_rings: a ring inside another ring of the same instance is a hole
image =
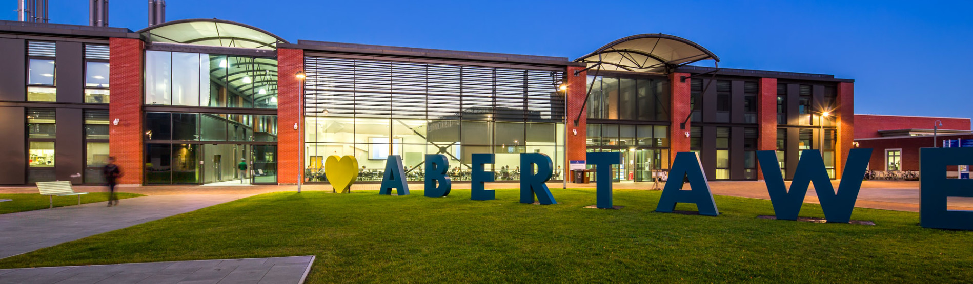
[[[0,215],[0,259],[248,195],[151,195]]]

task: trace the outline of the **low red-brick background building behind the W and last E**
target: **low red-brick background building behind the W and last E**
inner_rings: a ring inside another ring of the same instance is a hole
[[[854,117],[855,147],[874,149],[870,170],[919,170],[920,148],[943,147],[944,140],[973,139],[970,119],[885,115]]]

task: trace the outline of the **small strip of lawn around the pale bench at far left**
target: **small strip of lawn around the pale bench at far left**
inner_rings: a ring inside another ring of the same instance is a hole
[[[144,195],[118,193],[119,199]],[[0,198],[11,198],[13,201],[0,202],[0,214],[46,209],[51,206],[47,195],[39,194],[5,194]],[[90,193],[81,195],[82,203],[101,202],[108,200],[108,193]],[[78,196],[54,196],[54,207],[78,205]]]

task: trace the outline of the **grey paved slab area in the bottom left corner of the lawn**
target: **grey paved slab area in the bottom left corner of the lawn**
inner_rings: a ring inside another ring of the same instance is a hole
[[[0,283],[304,283],[313,256],[0,269]]]

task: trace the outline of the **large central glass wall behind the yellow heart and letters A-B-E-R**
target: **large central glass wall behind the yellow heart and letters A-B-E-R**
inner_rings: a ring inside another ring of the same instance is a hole
[[[563,177],[562,72],[306,57],[306,182],[329,156],[354,156],[359,181],[380,181],[389,155],[410,181],[427,154],[470,180],[474,153],[496,154],[497,181],[520,178],[520,154],[542,153]],[[490,168],[490,165],[487,165]]]

